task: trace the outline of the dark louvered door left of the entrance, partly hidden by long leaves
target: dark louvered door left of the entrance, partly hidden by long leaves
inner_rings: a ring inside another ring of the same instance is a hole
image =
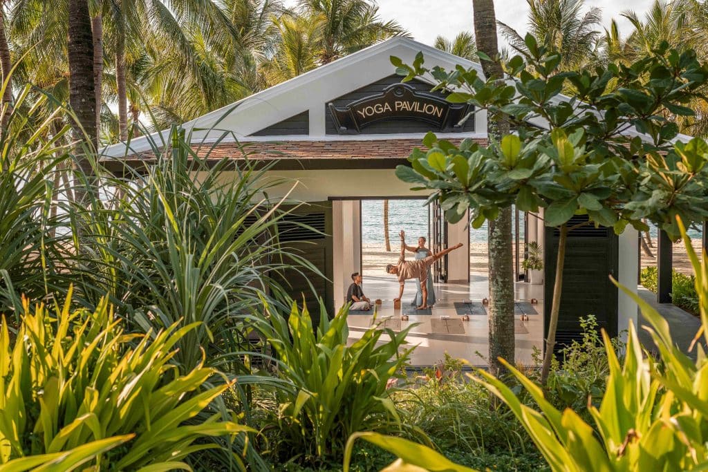
[[[295,269],[285,269],[280,276],[280,283],[298,305],[302,305],[304,297],[312,321],[317,324],[318,297],[324,299],[330,316],[333,314],[331,202],[308,203],[293,209],[278,224],[278,234],[283,246],[307,259],[326,277],[311,270],[304,270],[302,274]]]

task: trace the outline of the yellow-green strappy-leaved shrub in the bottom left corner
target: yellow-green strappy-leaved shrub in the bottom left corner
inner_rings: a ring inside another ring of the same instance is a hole
[[[202,388],[214,369],[200,363],[181,375],[171,364],[195,323],[129,335],[107,300],[93,312],[70,304],[52,314],[25,299],[14,345],[2,320],[0,464],[8,470],[47,462],[69,470],[76,457],[115,470],[189,469],[185,456],[213,447],[200,439],[249,430],[219,415],[197,418],[228,384]]]

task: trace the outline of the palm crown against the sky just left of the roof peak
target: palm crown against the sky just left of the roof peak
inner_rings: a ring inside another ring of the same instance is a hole
[[[322,18],[321,64],[404,33],[396,21],[382,21],[367,0],[300,0],[303,16]]]

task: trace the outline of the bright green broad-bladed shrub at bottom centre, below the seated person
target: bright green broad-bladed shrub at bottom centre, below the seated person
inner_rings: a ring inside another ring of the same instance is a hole
[[[316,332],[307,308],[301,312],[293,304],[287,320],[267,304],[265,311],[268,320],[253,320],[254,326],[273,347],[278,376],[290,383],[265,405],[262,430],[274,431],[272,454],[325,459],[341,454],[353,432],[401,428],[388,390],[404,376],[412,326],[400,333],[372,326],[348,346],[346,306],[331,321],[322,306]],[[383,342],[384,334],[390,340]]]

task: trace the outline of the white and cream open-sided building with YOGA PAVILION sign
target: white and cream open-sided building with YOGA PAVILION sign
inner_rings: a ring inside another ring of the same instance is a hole
[[[452,105],[440,93],[430,93],[431,86],[426,82],[400,83],[389,58],[400,57],[410,64],[421,51],[427,67],[453,69],[462,64],[475,67],[481,75],[479,64],[467,59],[408,38],[392,38],[183,124],[192,130],[194,146],[214,146],[211,157],[244,159],[245,149],[251,160],[277,159],[268,176],[285,178],[287,183],[276,188],[274,194],[285,195],[297,183],[290,198],[308,204],[297,208],[290,218],[326,235],[299,231],[289,236],[290,243],[300,244],[307,258],[329,279],[311,279],[329,311],[343,304],[350,274],[362,268],[362,200],[428,196],[411,191],[409,184],[396,178],[394,169],[407,163],[413,147],[423,147],[421,140],[430,130],[445,139],[469,138],[486,143],[486,113],[476,113],[459,125],[459,118],[468,111],[464,105]],[[222,139],[224,132],[228,136]],[[139,137],[130,142],[129,149],[125,144],[109,146],[103,161],[120,173],[123,166],[149,165],[150,151],[147,139]],[[236,173],[224,172],[222,178],[233,180]],[[409,337],[411,343],[419,345],[413,364],[433,364],[445,352],[484,364],[476,352],[487,352],[487,319],[481,304],[487,296],[486,284],[470,280],[467,221],[447,224],[441,214],[434,205],[429,210],[430,247],[435,251],[447,241],[462,241],[465,246],[435,267],[438,304],[431,314],[413,313],[405,304],[402,312],[394,310],[392,299],[398,286],[394,276],[384,273],[383,265],[380,277],[364,281],[364,290],[371,299],[383,299],[379,317],[394,315],[387,326],[395,330],[406,323],[421,323]],[[515,316],[517,359],[530,362],[533,347],[542,347],[547,330],[550,304],[544,304],[544,299],[551,298],[557,234],[545,228],[537,215],[522,218],[525,231],[521,235],[517,232],[517,238],[521,243],[537,241],[547,267],[545,274],[536,277],[544,283],[517,283],[518,313],[530,315]],[[391,232],[393,251],[397,251],[397,229]],[[409,243],[415,243],[414,236]],[[556,338],[560,343],[577,338],[578,318],[590,313],[611,335],[621,333],[630,320],[636,323],[636,304],[618,292],[608,275],[636,289],[638,246],[638,235],[631,228],[620,236],[612,229],[593,226],[571,231]],[[523,254],[515,255],[517,261],[519,257]],[[309,292],[302,277],[295,274],[292,285],[297,297]],[[414,289],[414,283],[406,284],[404,301],[411,298]],[[314,300],[312,294],[307,297]],[[531,304],[532,298],[539,303]],[[401,321],[400,314],[406,312],[411,313],[409,321]],[[470,320],[463,321],[462,314],[468,312],[472,312]],[[360,335],[371,320],[371,315],[351,315],[350,337]]]

